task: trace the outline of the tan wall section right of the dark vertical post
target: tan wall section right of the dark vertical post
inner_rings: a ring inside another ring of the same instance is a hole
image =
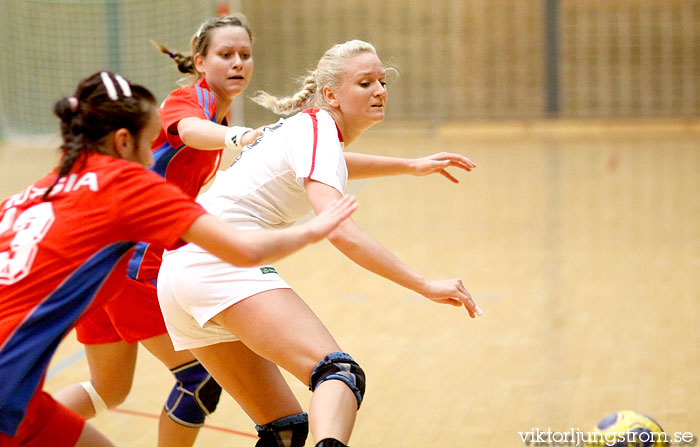
[[[700,115],[700,1],[562,1],[560,23],[563,115]]]

